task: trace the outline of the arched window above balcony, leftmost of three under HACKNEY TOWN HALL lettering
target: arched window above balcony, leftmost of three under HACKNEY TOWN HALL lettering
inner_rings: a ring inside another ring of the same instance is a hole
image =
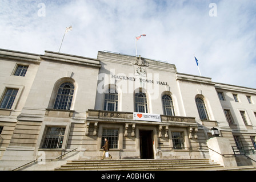
[[[104,110],[118,110],[118,93],[115,89],[109,89],[107,93],[105,93]]]

